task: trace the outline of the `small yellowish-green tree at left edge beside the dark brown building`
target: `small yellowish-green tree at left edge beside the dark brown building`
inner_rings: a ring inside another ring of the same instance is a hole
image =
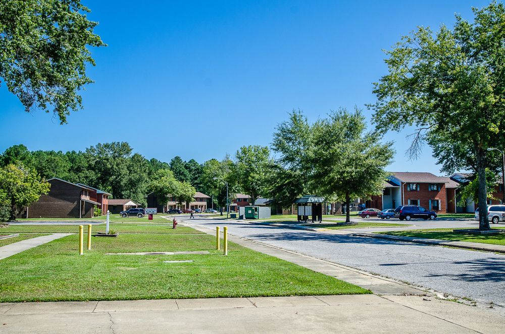
[[[50,186],[35,170],[28,170],[22,164],[7,165],[0,169],[0,207],[8,207],[9,220],[14,221],[24,207],[38,201],[41,194],[47,194]]]

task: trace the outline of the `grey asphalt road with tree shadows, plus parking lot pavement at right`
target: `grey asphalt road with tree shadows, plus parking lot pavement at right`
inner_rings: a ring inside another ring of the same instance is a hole
[[[228,226],[228,233],[238,237],[348,265],[450,295],[505,305],[505,255],[502,254],[283,229],[238,221],[223,222],[199,217],[191,220],[186,217],[183,219],[186,223],[213,230],[216,226],[221,226],[223,231],[222,227]],[[441,227],[439,225],[463,227],[475,224],[471,221],[412,222],[424,225],[425,228],[429,228],[426,224],[434,224],[430,225],[431,228]]]

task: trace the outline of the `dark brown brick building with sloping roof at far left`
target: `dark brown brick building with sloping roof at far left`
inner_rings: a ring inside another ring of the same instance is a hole
[[[91,218],[100,203],[90,198],[94,188],[52,178],[51,188],[26,208],[22,218]]]

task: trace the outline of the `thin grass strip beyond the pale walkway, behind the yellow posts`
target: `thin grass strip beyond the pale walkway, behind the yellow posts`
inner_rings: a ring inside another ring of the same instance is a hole
[[[187,226],[177,225],[176,229],[172,229],[172,224],[122,224],[110,223],[109,229],[113,229],[119,233],[195,233],[203,234]],[[91,225],[91,234],[105,232],[106,225]],[[2,229],[3,233],[79,233],[79,225],[12,225],[6,229]],[[5,230],[5,231],[4,231]],[[88,226],[84,224],[84,234],[87,234]]]

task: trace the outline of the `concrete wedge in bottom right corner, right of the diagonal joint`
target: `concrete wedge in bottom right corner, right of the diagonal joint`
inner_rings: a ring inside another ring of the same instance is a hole
[[[505,332],[505,317],[492,310],[479,309],[447,300],[420,296],[385,296],[397,304],[414,310],[436,316],[449,322],[458,323],[463,327],[481,333]]]

